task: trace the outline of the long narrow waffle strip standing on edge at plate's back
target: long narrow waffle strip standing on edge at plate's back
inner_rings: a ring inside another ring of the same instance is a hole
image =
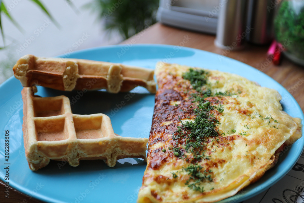
[[[58,90],[96,90],[127,92],[143,86],[156,92],[154,70],[102,61],[71,58],[21,57],[13,67],[23,87],[40,85]]]

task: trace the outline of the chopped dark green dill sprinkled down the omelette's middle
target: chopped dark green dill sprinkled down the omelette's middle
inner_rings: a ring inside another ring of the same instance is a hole
[[[190,107],[195,113],[195,119],[194,121],[183,122],[178,117],[181,125],[177,126],[177,130],[174,131],[172,137],[176,142],[173,147],[168,147],[168,149],[173,152],[174,156],[179,159],[185,158],[190,163],[188,167],[182,169],[182,171],[188,172],[188,175],[190,175],[185,184],[195,191],[203,192],[204,188],[201,184],[203,181],[212,182],[210,174],[212,171],[203,170],[203,167],[199,162],[204,159],[210,159],[210,155],[205,154],[207,151],[206,138],[216,138],[219,135],[219,130],[216,129],[216,125],[219,121],[211,112],[213,110],[217,110],[219,113],[224,112],[224,108],[219,103],[219,100],[212,104],[210,101],[206,100],[206,98],[210,96],[232,96],[234,94],[227,91],[212,93],[211,88],[209,88],[208,85],[208,72],[202,69],[190,68],[182,77],[183,79],[189,80],[193,89],[196,91],[196,93],[192,93],[189,98],[192,103],[197,105],[196,107],[195,105]],[[181,139],[185,139],[185,144],[181,145],[178,143],[178,140]],[[215,140],[219,141],[217,138]],[[187,156],[185,154],[187,152],[191,152],[192,156]],[[215,148],[213,148],[213,152],[216,152]],[[177,177],[176,173],[171,173],[173,178]]]

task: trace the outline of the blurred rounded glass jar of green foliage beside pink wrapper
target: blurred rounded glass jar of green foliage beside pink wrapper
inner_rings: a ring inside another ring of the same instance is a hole
[[[277,11],[274,29],[276,40],[288,44],[286,51],[304,59],[304,3],[294,8],[292,1],[283,1]]]

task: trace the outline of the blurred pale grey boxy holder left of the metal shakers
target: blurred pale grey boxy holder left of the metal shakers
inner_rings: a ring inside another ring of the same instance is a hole
[[[160,0],[157,20],[161,23],[215,34],[220,0]]]

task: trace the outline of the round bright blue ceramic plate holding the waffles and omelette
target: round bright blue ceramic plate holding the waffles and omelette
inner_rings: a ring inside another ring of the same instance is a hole
[[[258,82],[261,86],[278,90],[283,97],[283,109],[292,117],[304,119],[298,103],[278,82],[249,65],[206,51],[167,45],[118,45],[77,51],[69,57],[119,62],[146,68],[154,68],[157,61],[164,61],[236,73]],[[51,161],[48,166],[36,172],[29,170],[22,138],[21,89],[20,82],[14,77],[0,86],[2,180],[5,178],[4,135],[5,130],[8,130],[9,161],[5,163],[10,163],[9,185],[25,193],[28,196],[27,200],[33,197],[47,202],[136,202],[146,168],[146,163],[141,159],[121,159],[113,168],[106,166],[102,160],[84,160],[75,168],[65,162]],[[94,91],[81,96],[77,91],[61,92],[38,88],[40,96],[64,94],[71,101],[75,98],[74,104],[71,105],[74,114],[109,115],[114,131],[121,136],[148,138],[154,94],[139,87],[132,92],[110,94],[105,91]],[[122,101],[125,105],[121,105]],[[302,137],[283,153],[279,163],[257,183],[220,202],[244,201],[270,187],[292,168],[302,152],[303,145]]]

